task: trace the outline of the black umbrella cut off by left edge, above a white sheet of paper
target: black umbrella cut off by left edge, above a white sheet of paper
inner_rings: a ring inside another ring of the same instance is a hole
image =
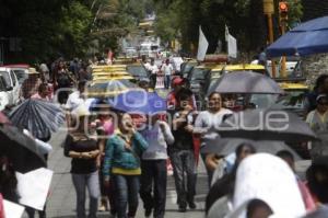
[[[0,153],[5,153],[15,171],[26,173],[45,168],[46,162],[35,141],[19,128],[0,124]]]

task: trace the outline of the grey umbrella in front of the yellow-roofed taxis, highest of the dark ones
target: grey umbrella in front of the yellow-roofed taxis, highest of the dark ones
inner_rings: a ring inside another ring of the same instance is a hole
[[[271,78],[253,71],[235,71],[223,74],[211,87],[208,94],[242,93],[242,94],[282,94],[278,83]]]

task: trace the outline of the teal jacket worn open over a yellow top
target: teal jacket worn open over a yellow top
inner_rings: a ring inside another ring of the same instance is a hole
[[[105,159],[103,167],[103,174],[108,177],[112,168],[120,168],[126,170],[134,170],[140,168],[140,157],[148,148],[148,142],[144,138],[136,133],[131,139],[132,151],[125,148],[126,141],[119,136],[114,134],[109,137],[105,148]]]

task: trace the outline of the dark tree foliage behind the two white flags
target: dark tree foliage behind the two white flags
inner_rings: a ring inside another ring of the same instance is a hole
[[[215,50],[218,41],[224,41],[224,26],[238,41],[243,50],[258,49],[266,45],[267,21],[261,0],[153,0],[157,14],[156,33],[169,41],[181,37],[185,50],[190,44],[197,45],[198,26],[201,25],[209,41],[209,53]],[[290,22],[302,16],[300,1],[288,0]],[[276,3],[274,28],[279,34],[278,0]]]

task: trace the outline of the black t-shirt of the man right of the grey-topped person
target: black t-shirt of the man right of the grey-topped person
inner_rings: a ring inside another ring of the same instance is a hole
[[[180,116],[179,112],[174,115],[175,118]],[[174,145],[172,146],[172,150],[192,150],[194,149],[194,139],[192,134],[188,133],[185,127],[187,125],[194,124],[192,114],[189,113],[187,115],[186,121],[177,128],[173,129],[174,136]]]

